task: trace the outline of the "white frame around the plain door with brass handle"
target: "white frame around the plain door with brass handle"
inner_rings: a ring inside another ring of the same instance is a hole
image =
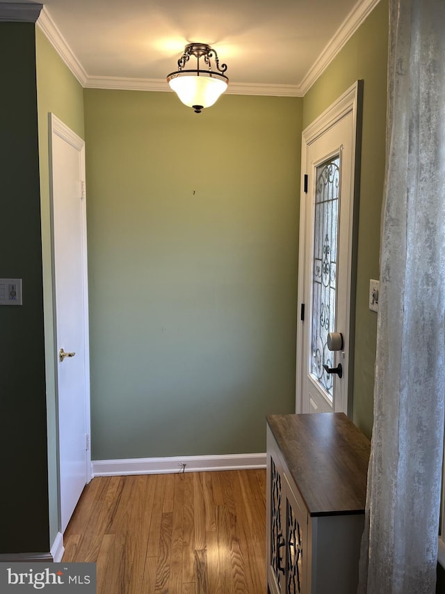
[[[79,152],[81,161],[81,265],[82,265],[82,279],[83,290],[81,298],[83,302],[83,336],[84,336],[84,368],[85,377],[83,378],[85,388],[85,419],[86,419],[86,434],[91,435],[91,416],[90,416],[90,344],[89,344],[89,318],[88,318],[88,253],[86,241],[86,187],[85,187],[85,141],[81,139],[75,132],[73,132],[67,125],[65,125],[57,116],[52,113],[48,114],[49,125],[49,202],[51,210],[51,275],[53,281],[53,317],[54,317],[54,361],[55,365],[55,391],[56,391],[56,423],[57,423],[57,465],[58,465],[58,529],[62,526],[61,517],[61,495],[60,495],[60,431],[59,431],[59,391],[58,391],[58,339],[57,339],[57,300],[56,300],[56,258],[54,245],[54,187],[53,187],[53,134],[58,136],[63,141],[67,142],[75,150]],[[90,437],[88,438],[90,439]],[[87,444],[86,444],[87,445]],[[86,482],[89,483],[92,478],[91,469],[91,447],[88,444],[86,447]]]

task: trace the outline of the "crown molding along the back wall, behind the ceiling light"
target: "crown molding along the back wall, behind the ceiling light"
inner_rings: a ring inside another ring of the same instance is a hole
[[[86,88],[109,88],[118,91],[166,91],[171,89],[165,79],[131,79],[119,77],[87,77]],[[225,95],[269,95],[271,97],[302,97],[299,86],[229,83]]]

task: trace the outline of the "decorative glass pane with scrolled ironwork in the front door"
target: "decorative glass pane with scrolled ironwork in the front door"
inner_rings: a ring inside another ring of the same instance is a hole
[[[333,366],[327,334],[335,329],[337,243],[339,235],[339,155],[316,168],[314,217],[314,269],[312,271],[312,345],[309,371],[333,400]]]

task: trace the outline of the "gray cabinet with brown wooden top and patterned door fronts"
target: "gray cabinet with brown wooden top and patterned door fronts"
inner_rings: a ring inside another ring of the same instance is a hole
[[[369,441],[343,413],[267,418],[270,594],[355,594]]]

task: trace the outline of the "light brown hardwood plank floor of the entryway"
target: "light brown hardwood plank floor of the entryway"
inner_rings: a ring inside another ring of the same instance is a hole
[[[64,542],[97,594],[264,594],[266,471],[93,478]]]

